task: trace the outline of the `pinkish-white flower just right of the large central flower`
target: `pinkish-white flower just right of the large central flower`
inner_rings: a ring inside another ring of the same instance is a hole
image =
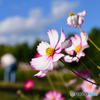
[[[85,34],[87,35],[87,33]],[[65,52],[69,54],[64,57],[64,60],[66,62],[73,62],[73,61],[78,62],[79,58],[85,56],[83,50],[89,47],[87,43],[88,39],[82,32],[80,33],[80,35],[81,37],[75,34],[74,37],[72,36],[70,38],[72,41],[72,46],[69,48],[65,48]]]

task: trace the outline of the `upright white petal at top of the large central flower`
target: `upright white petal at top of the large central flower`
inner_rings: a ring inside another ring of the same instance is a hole
[[[58,43],[58,38],[59,38],[57,30],[52,29],[52,30],[49,30],[49,32],[47,33],[50,39],[51,47],[55,48]]]

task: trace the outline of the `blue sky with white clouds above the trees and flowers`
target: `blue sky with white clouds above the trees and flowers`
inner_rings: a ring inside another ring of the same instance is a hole
[[[86,10],[82,29],[89,33],[100,28],[100,0],[0,0],[0,44],[14,45],[36,38],[48,40],[47,31],[63,28],[66,35],[77,33],[78,28],[66,26],[69,12]]]

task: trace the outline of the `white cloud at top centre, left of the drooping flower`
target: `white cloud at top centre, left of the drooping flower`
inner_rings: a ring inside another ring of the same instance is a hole
[[[76,6],[76,2],[69,3],[66,1],[54,1],[52,2],[52,16],[54,17],[54,19],[62,18]]]

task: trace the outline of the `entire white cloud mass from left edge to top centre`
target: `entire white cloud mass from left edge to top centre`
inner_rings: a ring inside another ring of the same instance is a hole
[[[41,8],[33,9],[29,12],[28,18],[14,16],[6,18],[0,22],[0,43],[14,44],[24,41],[33,43],[34,37],[47,39],[46,31],[50,29],[55,20],[63,18],[69,11],[76,7],[77,3],[68,3],[66,1],[53,1],[49,16],[43,16]],[[5,35],[4,35],[5,34]],[[9,35],[7,37],[6,35]],[[10,42],[9,42],[10,40]]]

